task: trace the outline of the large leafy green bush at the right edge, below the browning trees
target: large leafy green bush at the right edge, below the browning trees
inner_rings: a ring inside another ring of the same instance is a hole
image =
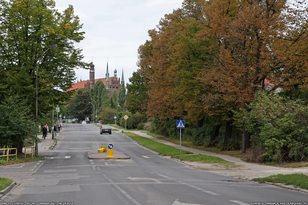
[[[248,107],[236,117],[250,131],[251,147],[264,150],[263,161],[308,160],[308,109],[301,100],[258,92]]]

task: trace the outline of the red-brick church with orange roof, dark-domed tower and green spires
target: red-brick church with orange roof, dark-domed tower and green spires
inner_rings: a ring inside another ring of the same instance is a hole
[[[117,70],[114,70],[114,76],[109,77],[109,71],[108,71],[108,62],[107,62],[107,71],[106,71],[106,77],[105,78],[98,78],[95,79],[95,69],[94,69],[94,64],[90,66],[90,79],[89,80],[80,80],[80,82],[77,80],[77,83],[72,84],[72,88],[69,90],[73,89],[80,89],[84,88],[86,90],[90,90],[95,83],[100,80],[104,83],[107,91],[108,91],[108,96],[111,98],[112,93],[115,90],[116,96],[118,98],[119,96],[119,90],[121,88],[121,84],[124,83],[124,73],[122,69],[122,79],[120,80],[120,77],[117,77]]]

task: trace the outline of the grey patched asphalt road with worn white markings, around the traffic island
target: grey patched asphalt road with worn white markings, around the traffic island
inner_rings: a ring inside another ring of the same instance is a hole
[[[100,134],[92,124],[66,124],[37,171],[1,203],[103,205],[226,205],[308,203],[307,194],[216,175],[158,156],[132,139]],[[127,160],[88,159],[87,152],[114,144]]]

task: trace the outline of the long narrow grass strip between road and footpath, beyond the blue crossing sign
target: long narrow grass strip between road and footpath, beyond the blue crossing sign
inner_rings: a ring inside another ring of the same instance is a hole
[[[145,146],[149,149],[152,149],[155,152],[158,152],[159,154],[165,156],[165,155],[178,155],[180,154],[180,149],[171,147],[169,145],[156,142],[152,139],[148,139],[146,137],[142,137],[138,134],[132,133],[132,132],[124,132],[128,137],[132,138],[133,140],[136,140],[139,144],[142,146]],[[192,154],[189,151],[182,150],[183,154]]]

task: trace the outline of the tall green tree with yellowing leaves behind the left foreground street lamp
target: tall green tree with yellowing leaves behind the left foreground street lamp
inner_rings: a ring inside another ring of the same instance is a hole
[[[53,0],[1,0],[0,7],[0,100],[18,94],[35,113],[35,77],[38,75],[38,114],[68,100],[75,80],[74,68],[86,68],[82,49],[82,25],[70,5],[63,13]],[[42,54],[53,44],[37,65]],[[60,89],[67,91],[62,92]]]

